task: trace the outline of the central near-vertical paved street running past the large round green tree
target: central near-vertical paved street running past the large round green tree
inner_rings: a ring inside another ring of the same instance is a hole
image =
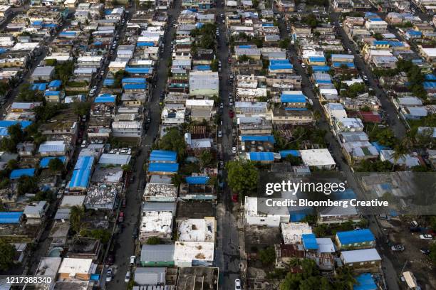
[[[218,58],[222,63],[222,73],[219,80],[219,90],[221,102],[224,104],[222,110],[222,126],[219,130],[222,131],[222,151],[224,155],[224,163],[231,161],[234,156],[232,152],[232,124],[233,120],[229,117],[229,92],[232,92],[232,86],[229,85],[229,74],[232,73],[231,66],[227,63],[229,58],[226,45],[227,28],[222,23],[220,14],[224,14],[224,1],[217,2],[217,17],[219,26],[219,43]],[[223,172],[223,178],[226,178],[226,172]],[[239,253],[239,230],[237,228],[237,212],[233,211],[233,203],[231,193],[227,185],[224,185],[222,194],[219,197],[217,206],[217,245],[215,264],[221,272],[220,289],[234,289],[234,280],[240,278],[240,253]]]

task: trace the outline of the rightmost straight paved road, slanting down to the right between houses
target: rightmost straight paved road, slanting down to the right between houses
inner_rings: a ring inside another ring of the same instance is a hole
[[[340,14],[331,13],[330,16],[333,20],[333,23],[336,23],[338,21]],[[360,58],[359,51],[355,50],[355,45],[351,43],[350,39],[346,35],[343,28],[338,27],[338,30],[339,33],[341,33],[343,45],[345,46],[345,48],[350,49],[354,55],[356,68],[360,72],[363,72],[365,73],[365,75],[368,76],[370,87],[373,88],[375,94],[378,96],[378,99],[382,104],[383,110],[385,111],[385,116],[387,117],[389,127],[393,129],[394,134],[397,138],[402,138],[403,136],[405,136],[406,128],[403,122],[401,122],[400,119],[398,119],[397,110],[390,102],[388,96],[385,94],[385,91],[380,87],[378,87],[377,83],[375,82],[375,77],[373,76],[373,73],[371,73],[370,69],[368,68],[368,65],[364,63],[363,58]]]

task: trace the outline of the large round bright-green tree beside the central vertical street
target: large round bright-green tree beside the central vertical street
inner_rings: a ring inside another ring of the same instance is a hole
[[[242,199],[257,188],[259,172],[251,161],[229,161],[226,164],[227,182],[234,193]]]

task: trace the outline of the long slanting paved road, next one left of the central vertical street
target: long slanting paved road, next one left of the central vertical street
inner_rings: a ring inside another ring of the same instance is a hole
[[[168,13],[173,19],[177,19],[181,10],[181,0],[176,0],[173,5],[174,8],[168,10]],[[151,144],[155,141],[155,138],[159,132],[160,124],[160,107],[157,104],[159,102],[160,92],[165,90],[165,85],[167,82],[167,60],[171,57],[171,40],[175,32],[174,27],[170,27],[169,31],[165,34],[165,50],[160,58],[160,63],[157,68],[157,84],[155,90],[152,92],[152,102],[148,104],[148,108],[151,112],[151,124],[150,129],[148,129],[145,137],[142,138],[142,143],[140,148],[142,149],[139,156],[137,156],[135,165],[133,166],[133,174],[135,175],[135,181],[130,184],[126,190],[127,204],[126,208],[123,209],[125,213],[125,220],[123,224],[125,225],[123,231],[115,237],[113,242],[115,242],[115,264],[113,269],[115,271],[115,276],[113,280],[105,285],[106,289],[125,289],[126,285],[124,281],[125,273],[128,271],[128,260],[130,256],[135,254],[135,242],[133,240],[133,231],[137,229],[140,219],[140,206],[142,198],[142,188],[144,186],[144,171],[142,166],[147,161],[148,151]],[[137,257],[137,260],[139,257]],[[104,272],[105,273],[105,272]]]

